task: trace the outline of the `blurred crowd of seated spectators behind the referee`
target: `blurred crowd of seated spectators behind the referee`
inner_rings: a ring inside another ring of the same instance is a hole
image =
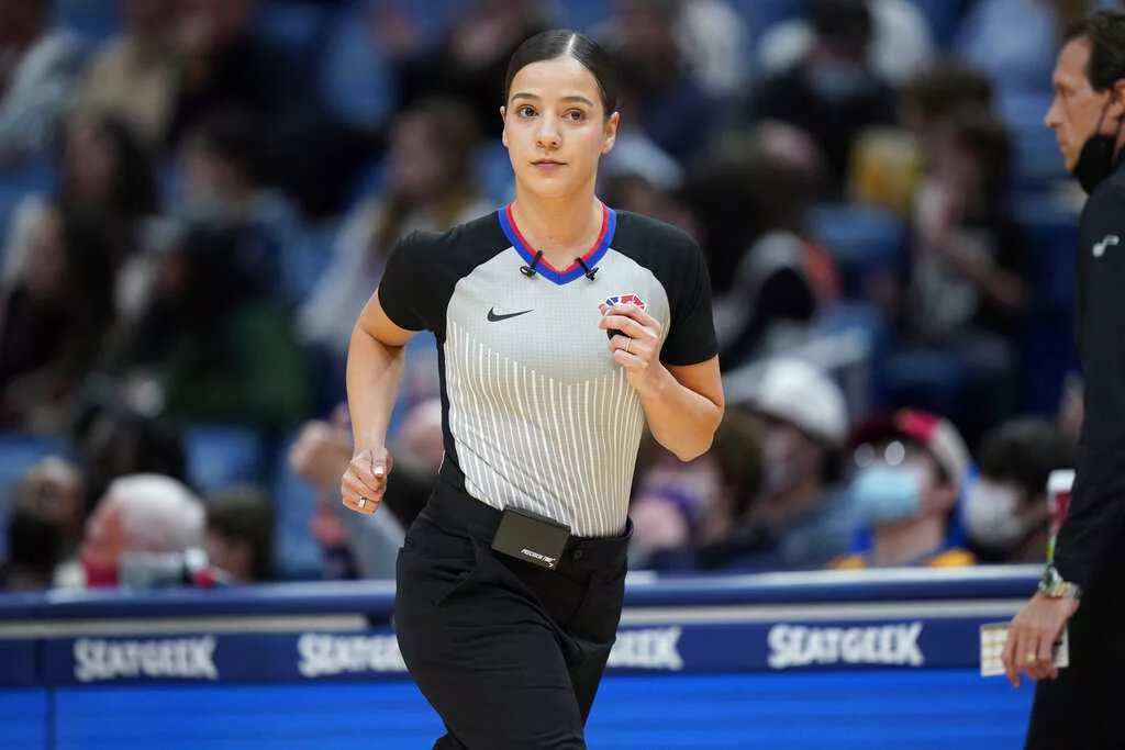
[[[600,195],[714,290],[727,416],[646,439],[633,567],[1044,559],[1082,414],[1043,117],[1114,2],[0,0],[0,588],[393,576],[436,352],[349,514],[351,327],[398,237],[511,199],[504,70],[557,26],[621,66]]]

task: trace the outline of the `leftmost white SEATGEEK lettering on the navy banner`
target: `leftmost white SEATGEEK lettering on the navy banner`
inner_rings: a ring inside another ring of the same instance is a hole
[[[74,642],[74,677],[82,683],[122,678],[218,679],[215,639]]]

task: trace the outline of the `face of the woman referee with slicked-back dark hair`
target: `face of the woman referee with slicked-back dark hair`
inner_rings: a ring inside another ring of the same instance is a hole
[[[597,80],[582,63],[557,57],[524,66],[501,115],[518,183],[544,198],[593,189],[619,116],[605,116]]]

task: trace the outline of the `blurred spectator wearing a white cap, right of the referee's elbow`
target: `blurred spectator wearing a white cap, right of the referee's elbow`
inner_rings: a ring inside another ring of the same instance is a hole
[[[734,534],[701,554],[703,567],[822,567],[849,549],[858,518],[836,488],[847,405],[826,373],[775,358],[728,376],[728,403],[765,423],[763,481]]]

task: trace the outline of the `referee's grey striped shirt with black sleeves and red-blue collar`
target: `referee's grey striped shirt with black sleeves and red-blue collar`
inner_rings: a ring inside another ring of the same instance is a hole
[[[525,265],[536,270],[530,278]],[[460,469],[465,491],[579,536],[623,530],[645,423],[597,327],[598,305],[644,306],[663,326],[665,364],[716,355],[699,246],[666,224],[604,206],[582,263],[536,263],[506,206],[442,234],[405,237],[378,295],[396,325],[436,338],[446,461]]]

